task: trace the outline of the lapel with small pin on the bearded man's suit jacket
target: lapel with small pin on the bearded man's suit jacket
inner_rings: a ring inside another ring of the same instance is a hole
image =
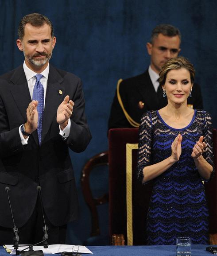
[[[53,121],[56,121],[58,106],[64,99],[65,87],[61,85],[62,76],[50,65],[49,76],[47,81],[46,99],[42,125],[42,142]],[[55,120],[54,120],[55,119]]]

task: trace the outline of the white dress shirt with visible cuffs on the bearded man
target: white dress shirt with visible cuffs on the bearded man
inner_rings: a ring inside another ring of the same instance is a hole
[[[46,88],[47,88],[47,80],[48,80],[48,74],[49,74],[49,69],[50,69],[50,66],[49,66],[49,63],[46,67],[45,70],[43,70],[42,74],[43,75],[43,78],[41,78],[41,83],[43,85],[43,88],[44,88],[44,105],[45,105],[45,98],[46,98]],[[28,84],[28,88],[29,88],[29,93],[30,93],[30,96],[31,96],[31,100],[32,100],[32,95],[33,95],[33,89],[34,89],[34,86],[35,86],[35,82],[36,82],[36,78],[35,78],[35,75],[37,73],[35,73],[33,70],[31,70],[30,68],[27,67],[26,65],[26,62],[24,61],[23,62],[23,70],[24,70],[24,73],[26,75],[26,78],[27,78],[27,84]],[[21,127],[21,125],[20,125]],[[23,145],[26,145],[28,143],[28,139],[29,139],[29,136],[25,139],[23,137],[23,134],[21,132],[21,128],[19,127],[19,136],[20,136],[20,139],[21,139],[21,143]],[[70,127],[71,127],[71,121],[70,121],[70,118],[68,119],[68,124],[66,126],[66,128],[64,128],[63,130],[61,130],[60,126],[59,126],[59,134],[64,138],[68,138],[69,135],[70,135]]]

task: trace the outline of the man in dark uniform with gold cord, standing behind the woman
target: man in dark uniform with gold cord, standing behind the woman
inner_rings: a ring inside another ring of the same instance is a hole
[[[154,28],[147,52],[151,56],[149,68],[136,77],[119,81],[109,116],[110,128],[139,127],[141,116],[148,110],[161,109],[167,105],[163,89],[159,86],[159,72],[163,64],[180,52],[181,34],[178,28],[161,24]],[[202,109],[200,86],[193,85],[190,108]]]

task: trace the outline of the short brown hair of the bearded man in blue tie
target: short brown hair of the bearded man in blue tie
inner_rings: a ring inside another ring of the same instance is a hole
[[[51,37],[54,37],[54,28],[50,19],[40,13],[31,13],[24,16],[19,23],[18,36],[20,40],[23,40],[24,29],[27,23],[30,23],[33,27],[42,27],[46,23],[50,26]]]

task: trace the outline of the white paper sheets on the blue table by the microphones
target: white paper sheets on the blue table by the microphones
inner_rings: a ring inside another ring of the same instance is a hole
[[[20,244],[22,245],[22,244]],[[5,246],[8,249],[13,249],[13,245],[12,244],[5,244]],[[28,245],[27,245],[28,246]],[[19,251],[23,250],[25,247],[19,247]],[[80,252],[80,253],[91,253],[93,254],[93,252],[91,252],[88,248],[86,248],[84,245],[73,245],[73,244],[50,244],[48,245],[48,248],[44,248],[43,246],[33,246],[33,250],[34,251],[38,251],[38,250],[43,250],[44,253],[60,253],[60,252]],[[28,250],[28,249],[27,249]]]

